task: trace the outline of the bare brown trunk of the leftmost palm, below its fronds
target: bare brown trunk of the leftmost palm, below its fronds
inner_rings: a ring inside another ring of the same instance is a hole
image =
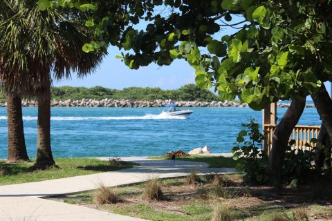
[[[22,101],[19,95],[7,95],[8,121],[8,163],[28,161],[24,126],[22,119]]]

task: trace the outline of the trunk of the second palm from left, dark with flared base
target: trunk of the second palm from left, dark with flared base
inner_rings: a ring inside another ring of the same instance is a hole
[[[48,169],[55,166],[50,148],[50,86],[46,86],[38,97],[37,157],[33,169]]]

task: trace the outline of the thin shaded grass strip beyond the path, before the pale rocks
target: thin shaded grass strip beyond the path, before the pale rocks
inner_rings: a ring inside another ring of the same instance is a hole
[[[149,157],[151,159],[160,159],[160,160],[170,160],[171,158],[168,156],[156,156]],[[221,167],[235,167],[239,160],[233,160],[232,157],[216,157],[216,156],[201,156],[201,155],[193,155],[189,157],[176,157],[176,160],[187,160],[187,161],[195,161],[195,162],[205,162],[208,163],[210,167],[221,168]]]

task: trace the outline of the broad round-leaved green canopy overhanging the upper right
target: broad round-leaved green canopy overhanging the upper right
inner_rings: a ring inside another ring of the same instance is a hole
[[[304,99],[332,79],[331,0],[117,2],[127,28],[111,35],[112,21],[99,22],[109,15],[95,13],[86,26],[100,35],[86,52],[111,43],[128,51],[118,58],[133,69],[185,59],[198,86],[216,86],[223,99],[238,96],[255,110],[279,99]],[[145,30],[136,30],[142,19]],[[223,26],[234,35],[216,38]]]

